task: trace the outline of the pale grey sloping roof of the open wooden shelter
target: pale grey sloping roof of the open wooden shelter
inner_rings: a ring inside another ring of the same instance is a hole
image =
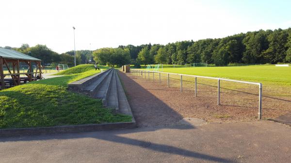
[[[0,57],[5,59],[22,59],[22,60],[40,60],[29,55],[17,52],[11,49],[4,49],[0,47]]]

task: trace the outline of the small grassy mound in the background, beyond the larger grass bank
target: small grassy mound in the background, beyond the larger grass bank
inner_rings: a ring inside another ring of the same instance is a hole
[[[100,66],[100,65],[98,65],[98,67],[100,69],[107,69],[108,68],[106,66]],[[81,64],[81,65],[71,67],[65,71],[62,71],[60,73],[53,74],[53,75],[78,74],[78,73],[84,73],[84,72],[89,71],[89,70],[95,70],[95,67],[93,64]]]

